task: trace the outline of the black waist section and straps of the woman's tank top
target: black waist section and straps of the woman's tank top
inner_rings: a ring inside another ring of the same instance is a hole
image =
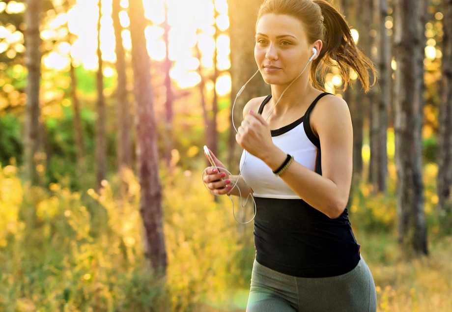
[[[312,133],[309,119],[317,101],[327,94],[319,95],[305,115],[293,124],[272,130],[275,140],[278,136],[290,135],[296,127],[303,127],[310,144],[317,148],[314,171],[319,174],[322,174],[320,141]],[[270,97],[264,100],[260,112],[269,100]],[[290,139],[296,145],[298,138]],[[290,151],[286,152],[290,154]],[[253,188],[253,185],[250,186]],[[341,275],[358,264],[360,246],[353,234],[347,208],[339,218],[330,219],[303,199],[277,197],[254,198],[257,209],[254,219],[257,262],[284,274],[310,278]]]

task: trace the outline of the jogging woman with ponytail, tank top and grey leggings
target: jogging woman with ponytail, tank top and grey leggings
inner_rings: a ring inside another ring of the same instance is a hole
[[[239,195],[240,189],[256,202],[247,311],[376,311],[375,285],[346,208],[350,112],[321,85],[335,65],[345,87],[352,69],[367,91],[373,65],[324,0],[265,0],[254,57],[271,95],[244,108],[236,135],[244,148],[241,174],[233,177],[238,182],[215,167],[204,175],[213,194]]]

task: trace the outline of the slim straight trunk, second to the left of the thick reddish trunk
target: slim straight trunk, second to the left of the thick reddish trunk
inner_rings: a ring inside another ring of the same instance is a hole
[[[97,21],[97,58],[98,69],[96,75],[97,85],[97,120],[96,120],[96,187],[102,187],[102,180],[106,177],[106,113],[104,98],[104,74],[102,52],[100,50],[100,20],[102,17],[102,1],[99,0],[99,19]]]

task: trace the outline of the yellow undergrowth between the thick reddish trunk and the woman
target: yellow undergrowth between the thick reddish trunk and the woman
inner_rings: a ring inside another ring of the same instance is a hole
[[[243,271],[237,267],[243,246],[231,203],[226,197],[214,200],[199,172],[172,168],[162,179],[172,311],[193,311],[212,302],[237,308],[225,292]]]

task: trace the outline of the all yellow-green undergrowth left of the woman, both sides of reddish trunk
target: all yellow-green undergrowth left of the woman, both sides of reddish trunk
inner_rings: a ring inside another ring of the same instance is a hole
[[[246,288],[230,289],[242,278],[243,248],[230,202],[214,200],[195,173],[173,167],[162,177],[165,280],[143,257],[132,172],[88,196],[57,183],[30,188],[17,174],[14,166],[0,170],[1,311],[194,311],[246,302]]]

